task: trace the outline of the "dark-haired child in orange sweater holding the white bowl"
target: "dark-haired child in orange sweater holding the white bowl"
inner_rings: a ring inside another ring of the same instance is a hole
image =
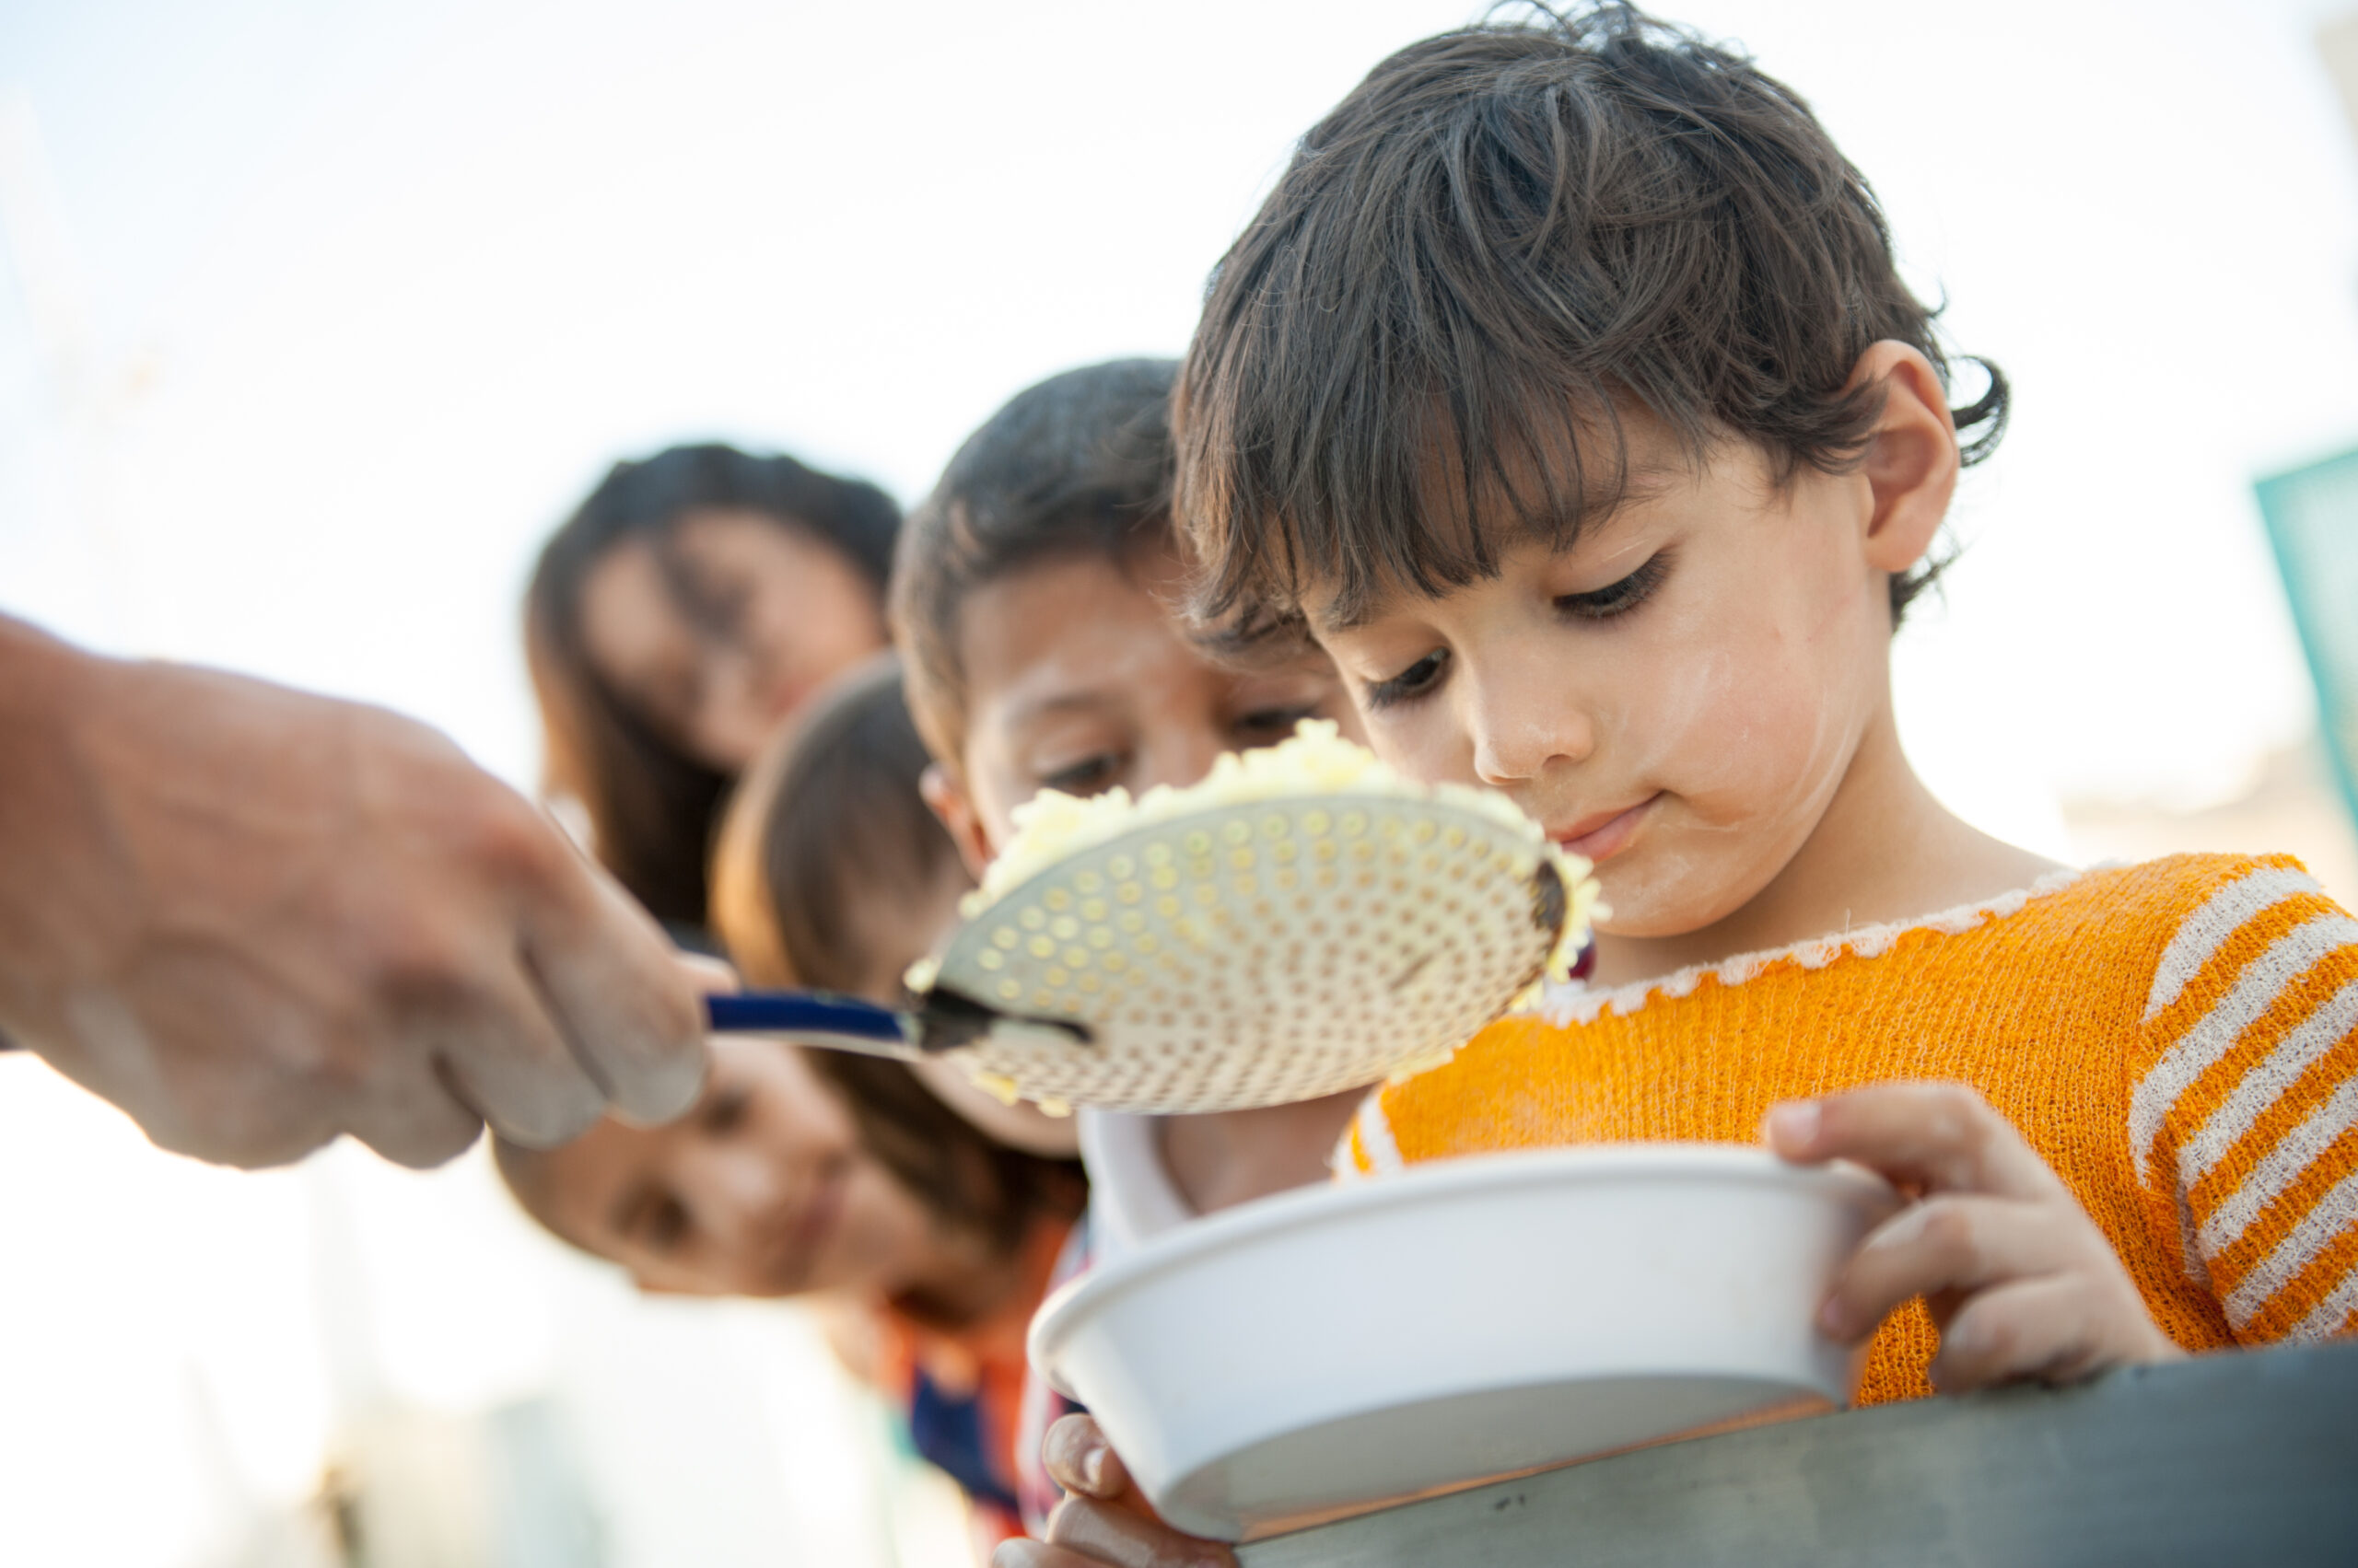
[[[1377,66],[1221,262],[1177,401],[1207,627],[1328,651],[1382,757],[1504,790],[1613,910],[1589,986],[1387,1087],[1353,1167],[1860,1160],[1919,1198],[1823,1311],[1884,1325],[1868,1401],[2358,1309],[2358,922],[2285,858],[2049,865],[1901,755],[1889,639],[2002,420],[1995,370],[1952,417],[1802,101],[1622,7]],[[1002,1566],[1226,1561],[1085,1419],[1049,1462],[1082,1497]]]

